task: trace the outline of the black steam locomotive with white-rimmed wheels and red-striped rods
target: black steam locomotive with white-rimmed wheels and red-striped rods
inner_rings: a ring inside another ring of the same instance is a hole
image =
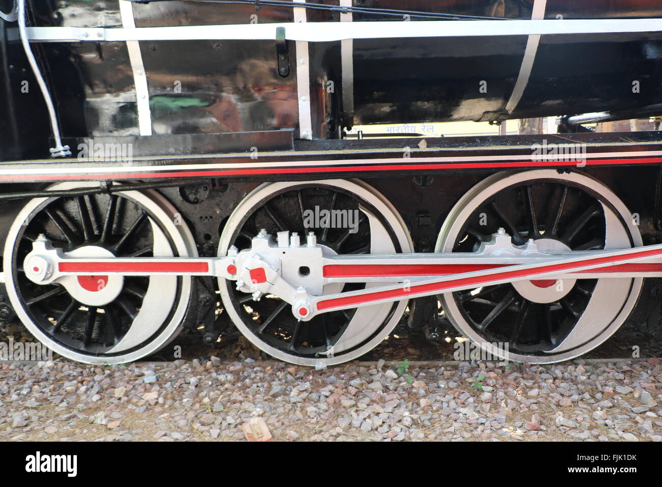
[[[662,135],[591,126],[662,115],[657,1],[0,0],[0,19],[0,320],[62,356],[233,325],[325,366],[407,313],[548,363],[659,323]],[[432,129],[540,117],[555,133]]]

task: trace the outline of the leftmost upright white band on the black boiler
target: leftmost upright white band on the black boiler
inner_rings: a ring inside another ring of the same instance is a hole
[[[119,0],[120,14],[122,15],[122,30],[136,29],[136,21],[133,17],[133,5],[128,0]],[[102,29],[109,30],[109,29]],[[88,34],[89,35],[89,34]],[[140,135],[152,135],[152,110],[150,109],[150,89],[147,85],[147,74],[142,64],[142,53],[140,42],[137,40],[126,40],[128,58],[133,70],[133,82],[136,87],[136,103],[138,106],[138,129]]]

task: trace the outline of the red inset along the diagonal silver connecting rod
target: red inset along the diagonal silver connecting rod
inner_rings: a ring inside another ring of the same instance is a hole
[[[345,298],[324,299],[318,301],[317,309],[323,311],[340,306],[352,306],[379,299],[393,299],[393,298],[406,298],[412,294],[422,292],[444,292],[445,290],[455,288],[457,286],[467,286],[467,288],[476,285],[484,286],[491,282],[500,281],[508,278],[523,278],[526,276],[535,276],[540,272],[562,272],[572,269],[577,266],[594,265],[594,264],[611,264],[612,262],[619,262],[634,257],[645,257],[662,254],[662,250],[643,250],[641,252],[634,252],[622,256],[598,257],[585,260],[583,262],[561,262],[560,264],[553,264],[551,266],[540,266],[531,269],[509,270],[500,272],[498,274],[491,274],[490,276],[473,276],[471,278],[459,278],[444,282],[432,282],[430,284],[419,284],[418,286],[411,286],[406,290],[404,288],[394,289],[388,291],[377,291],[372,293],[365,293],[359,296],[347,296]],[[624,264],[629,265],[629,264]],[[587,270],[587,272],[591,272]]]

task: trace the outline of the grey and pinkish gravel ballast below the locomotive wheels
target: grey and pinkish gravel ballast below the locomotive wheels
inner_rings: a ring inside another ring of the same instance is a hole
[[[314,370],[193,360],[0,362],[0,440],[661,441],[658,359]]]

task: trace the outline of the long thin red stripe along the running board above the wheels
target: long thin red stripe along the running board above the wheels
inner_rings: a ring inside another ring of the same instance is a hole
[[[61,180],[107,180],[113,178],[121,179],[154,179],[154,178],[201,178],[218,176],[265,176],[269,174],[320,174],[336,172],[384,172],[384,171],[420,171],[420,170],[457,170],[457,169],[508,169],[508,168],[555,168],[555,167],[578,167],[585,166],[609,166],[609,165],[635,165],[635,164],[660,164],[662,158],[628,158],[628,159],[587,159],[578,164],[577,161],[512,161],[512,162],[449,162],[449,163],[426,163],[426,164],[365,164],[361,166],[332,166],[334,161],[329,161],[329,166],[308,166],[300,168],[250,168],[228,169],[228,170],[197,170],[197,171],[173,171],[173,172],[115,172],[108,174],[57,174],[35,176],[0,176],[0,181],[61,181]],[[584,164],[585,163],[585,164]],[[305,164],[305,163],[302,163]],[[185,166],[185,165],[183,165]],[[0,171],[1,174],[1,171]]]

